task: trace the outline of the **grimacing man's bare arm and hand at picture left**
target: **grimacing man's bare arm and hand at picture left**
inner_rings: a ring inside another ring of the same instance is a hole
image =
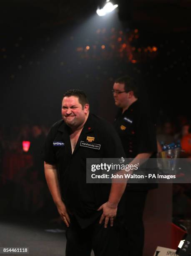
[[[60,217],[64,221],[64,223],[69,227],[70,218],[68,216],[68,212],[66,210],[65,204],[62,201],[61,193],[60,193],[60,185],[58,182],[58,174],[55,165],[48,164],[44,162],[45,168],[45,178],[48,184],[48,188],[50,190],[50,194],[53,197],[53,201],[58,209]]]

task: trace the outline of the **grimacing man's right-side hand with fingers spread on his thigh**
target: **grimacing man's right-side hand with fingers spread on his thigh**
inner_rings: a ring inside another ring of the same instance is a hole
[[[110,225],[113,227],[113,219],[116,217],[117,214],[117,206],[112,205],[110,202],[106,202],[105,204],[101,205],[98,208],[98,211],[103,210],[103,213],[100,218],[100,224],[105,219],[104,228],[107,228],[108,222],[110,220]]]

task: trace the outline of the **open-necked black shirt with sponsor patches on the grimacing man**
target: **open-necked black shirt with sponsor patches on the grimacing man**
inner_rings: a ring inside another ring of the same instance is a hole
[[[88,146],[90,144],[94,146]],[[89,114],[73,154],[68,125],[60,120],[50,129],[43,159],[49,164],[56,164],[63,201],[81,227],[88,226],[101,215],[97,209],[108,201],[111,189],[111,184],[86,183],[86,158],[122,156],[125,153],[115,129],[106,120],[95,115]]]

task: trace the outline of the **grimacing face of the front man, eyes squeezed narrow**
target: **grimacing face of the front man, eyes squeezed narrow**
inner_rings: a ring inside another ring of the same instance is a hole
[[[69,127],[78,127],[83,124],[88,113],[86,104],[84,108],[80,104],[78,97],[64,97],[62,101],[62,117]]]

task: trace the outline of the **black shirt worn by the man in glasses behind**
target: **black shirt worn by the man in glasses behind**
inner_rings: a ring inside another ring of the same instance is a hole
[[[123,114],[122,109],[118,111],[114,126],[121,138],[126,158],[133,159],[138,154],[150,152],[153,152],[151,158],[156,158],[156,126],[151,120],[148,111],[138,100],[133,102]],[[156,187],[156,184],[127,185],[127,189],[145,190],[154,187]]]

